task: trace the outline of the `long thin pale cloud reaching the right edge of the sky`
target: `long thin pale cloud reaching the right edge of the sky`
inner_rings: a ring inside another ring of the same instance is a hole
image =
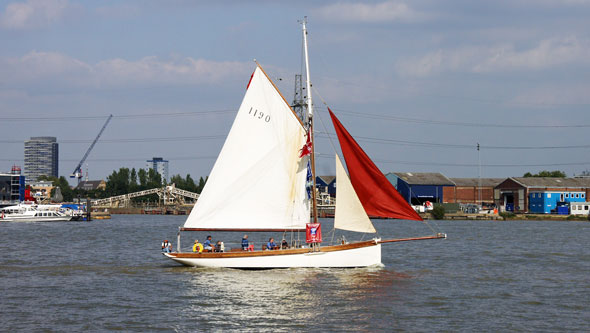
[[[517,50],[512,44],[437,50],[418,59],[402,60],[396,68],[402,75],[427,76],[445,71],[542,70],[567,64],[590,64],[589,40],[552,38],[528,50]]]

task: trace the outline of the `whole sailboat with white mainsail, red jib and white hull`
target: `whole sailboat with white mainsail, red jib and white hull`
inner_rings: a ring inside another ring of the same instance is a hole
[[[179,228],[177,252],[163,253],[187,266],[242,269],[367,267],[381,264],[381,245],[440,239],[445,234],[322,245],[315,198],[313,102],[306,21],[307,120],[291,109],[256,62],[226,141],[203,191]],[[336,154],[334,228],[376,233],[369,216],[422,221],[328,109],[350,177]],[[310,186],[310,183],[312,185]],[[311,187],[311,189],[309,188]],[[310,220],[311,219],[311,220]],[[306,246],[275,250],[181,252],[182,231],[306,232]]]

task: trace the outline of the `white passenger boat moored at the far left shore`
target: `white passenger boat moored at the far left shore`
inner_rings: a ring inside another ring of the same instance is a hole
[[[70,221],[72,214],[61,205],[20,203],[0,208],[0,222],[58,222]]]

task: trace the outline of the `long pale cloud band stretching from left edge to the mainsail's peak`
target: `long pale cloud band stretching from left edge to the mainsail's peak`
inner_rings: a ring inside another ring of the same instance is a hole
[[[0,84],[119,87],[121,85],[204,84],[250,75],[251,62],[145,57],[137,61],[109,59],[97,64],[56,52],[30,52],[0,58]]]

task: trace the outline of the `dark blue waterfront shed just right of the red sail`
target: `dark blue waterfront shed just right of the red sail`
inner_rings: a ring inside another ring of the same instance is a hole
[[[395,175],[395,177],[394,177]],[[386,176],[390,181],[397,179],[397,190],[410,204],[423,205],[444,202],[444,193],[455,183],[439,172],[394,172]]]

